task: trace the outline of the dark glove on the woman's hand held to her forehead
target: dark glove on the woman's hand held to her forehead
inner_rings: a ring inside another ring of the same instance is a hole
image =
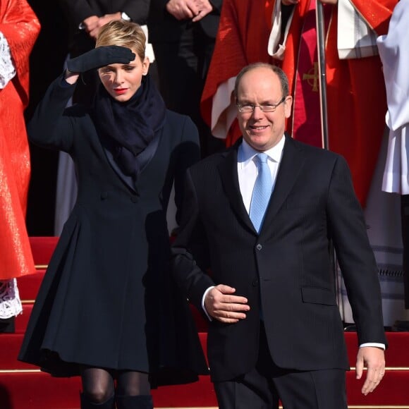
[[[94,68],[109,66],[109,64],[128,64],[135,59],[135,54],[126,47],[109,45],[97,47],[75,59],[67,61],[67,69],[71,73],[84,73]]]

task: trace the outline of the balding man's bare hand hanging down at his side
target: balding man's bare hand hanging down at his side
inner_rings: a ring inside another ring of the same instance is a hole
[[[361,379],[364,366],[367,367],[367,378],[362,386],[362,393],[366,396],[373,392],[385,374],[384,350],[376,346],[363,346],[358,350],[356,360],[356,378]]]

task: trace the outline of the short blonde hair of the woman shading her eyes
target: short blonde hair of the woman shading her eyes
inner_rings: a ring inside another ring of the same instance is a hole
[[[99,31],[95,47],[118,45],[133,49],[145,59],[146,37],[139,24],[130,21],[113,20],[107,23]]]

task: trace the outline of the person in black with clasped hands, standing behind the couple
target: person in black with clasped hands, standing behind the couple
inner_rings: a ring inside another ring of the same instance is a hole
[[[190,116],[199,129],[202,155],[224,147],[200,114],[223,0],[150,0],[149,41],[166,106]]]

